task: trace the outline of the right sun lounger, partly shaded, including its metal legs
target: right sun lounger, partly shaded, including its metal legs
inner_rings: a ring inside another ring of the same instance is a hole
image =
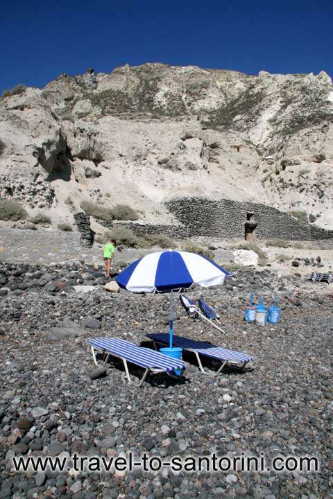
[[[154,344],[169,343],[169,335],[166,333],[153,333],[148,334],[147,336],[148,338],[153,340]],[[227,350],[222,347],[217,347],[212,343],[189,340],[188,338],[182,338],[181,336],[176,335],[173,336],[173,345],[175,347],[180,347],[185,351],[194,353],[194,355],[196,356],[196,360],[198,360],[200,371],[203,372],[203,374],[207,374],[209,376],[217,376],[226,364],[231,364],[239,367],[240,369],[244,369],[244,367],[248,362],[250,362],[250,360],[254,360],[254,357],[248,355],[248,353]],[[200,356],[220,361],[221,366],[219,367],[218,371],[214,372],[213,374],[206,372],[205,369],[203,369]]]

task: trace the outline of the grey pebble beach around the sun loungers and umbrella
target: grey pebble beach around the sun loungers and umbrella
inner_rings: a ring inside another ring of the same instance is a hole
[[[185,376],[129,385],[121,362],[97,377],[89,338],[112,336],[153,348],[148,333],[167,332],[168,295],[103,289],[102,268],[0,264],[0,497],[6,498],[331,498],[332,294],[299,274],[234,272],[203,297],[225,333],[187,317],[176,300],[176,333],[250,353],[244,371],[200,374],[184,355]],[[76,288],[75,286],[78,286]],[[89,286],[89,288],[85,288]],[[321,292],[321,289],[325,293]],[[89,292],[84,292],[89,289]],[[278,291],[282,319],[244,322],[248,292],[268,302]],[[207,365],[214,371],[216,366]],[[139,373],[130,369],[134,377]],[[242,471],[171,473],[15,473],[17,455],[219,456],[311,455],[316,473]]]

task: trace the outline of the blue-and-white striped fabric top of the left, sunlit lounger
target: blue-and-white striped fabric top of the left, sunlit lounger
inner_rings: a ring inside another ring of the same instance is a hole
[[[89,344],[95,349],[106,351],[119,358],[125,358],[140,367],[158,368],[164,371],[184,369],[185,364],[181,360],[164,355],[155,350],[138,347],[135,343],[121,340],[121,338],[94,338]]]

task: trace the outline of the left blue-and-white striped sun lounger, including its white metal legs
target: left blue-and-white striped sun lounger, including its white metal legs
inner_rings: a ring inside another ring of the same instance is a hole
[[[88,342],[92,348],[92,358],[94,359],[96,366],[100,367],[96,360],[96,352],[103,353],[104,366],[108,362],[110,356],[121,359],[123,361],[123,367],[125,368],[126,378],[137,387],[142,386],[142,383],[144,383],[148,374],[160,374],[165,372],[171,377],[179,378],[185,369],[185,364],[182,360],[166,356],[163,353],[151,349],[138,347],[135,343],[121,340],[121,338],[94,338]],[[128,362],[145,369],[139,383],[135,383],[130,378]],[[177,369],[181,369],[179,376],[176,376],[175,374]]]

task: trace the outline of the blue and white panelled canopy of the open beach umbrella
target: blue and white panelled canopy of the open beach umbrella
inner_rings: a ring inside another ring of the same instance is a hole
[[[207,288],[222,284],[226,277],[231,277],[230,272],[205,256],[169,250],[143,256],[115,280],[129,291],[155,292],[191,288],[194,284]]]

